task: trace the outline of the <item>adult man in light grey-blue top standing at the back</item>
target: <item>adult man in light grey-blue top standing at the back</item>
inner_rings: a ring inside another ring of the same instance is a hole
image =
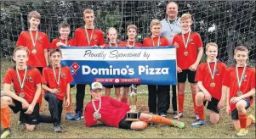
[[[166,14],[167,18],[162,19],[162,31],[161,36],[164,36],[168,38],[168,41],[170,44],[172,44],[174,35],[181,32],[181,29],[179,27],[180,19],[177,16],[178,15],[178,4],[175,2],[170,2],[166,6]],[[172,97],[172,105],[174,110],[174,118],[178,118],[177,114],[177,97],[176,97],[176,85],[172,86],[173,89],[173,97]],[[168,93],[168,103],[166,106],[166,109],[168,111],[170,107],[170,93]]]

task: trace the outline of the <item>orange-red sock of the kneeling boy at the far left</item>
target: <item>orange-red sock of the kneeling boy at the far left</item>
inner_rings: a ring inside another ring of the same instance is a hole
[[[9,107],[1,108],[1,123],[3,129],[11,126]]]

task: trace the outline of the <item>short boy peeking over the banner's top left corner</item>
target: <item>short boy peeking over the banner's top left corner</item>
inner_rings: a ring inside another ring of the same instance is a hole
[[[50,49],[59,48],[60,46],[76,46],[75,39],[69,39],[71,27],[65,21],[59,25],[60,38],[55,38],[51,43]]]

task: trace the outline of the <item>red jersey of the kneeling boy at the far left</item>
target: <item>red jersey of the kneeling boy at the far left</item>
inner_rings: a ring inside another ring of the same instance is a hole
[[[19,70],[19,75],[20,75],[20,81],[23,81],[23,77],[25,75],[25,69]],[[42,76],[37,68],[31,68],[30,66],[27,67],[27,72],[26,72],[26,79],[24,83],[23,90],[20,89],[20,84],[19,84],[19,79],[18,75],[16,73],[16,67],[14,66],[13,69],[8,69],[6,75],[3,78],[3,83],[6,84],[14,84],[14,91],[16,92],[17,95],[20,94],[20,92],[25,93],[24,99],[27,101],[27,103],[32,103],[36,91],[37,91],[37,84],[42,83]],[[40,100],[37,100],[37,103]]]

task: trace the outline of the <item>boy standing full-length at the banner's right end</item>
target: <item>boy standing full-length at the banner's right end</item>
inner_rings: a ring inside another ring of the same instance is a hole
[[[179,117],[183,117],[184,97],[185,97],[185,81],[191,85],[192,100],[194,104],[194,113],[196,120],[199,120],[196,114],[196,92],[197,83],[195,81],[196,69],[202,58],[202,40],[201,36],[191,31],[193,21],[191,14],[182,14],[180,18],[181,33],[174,36],[172,45],[177,50],[177,72],[178,72],[178,100],[179,100]]]

